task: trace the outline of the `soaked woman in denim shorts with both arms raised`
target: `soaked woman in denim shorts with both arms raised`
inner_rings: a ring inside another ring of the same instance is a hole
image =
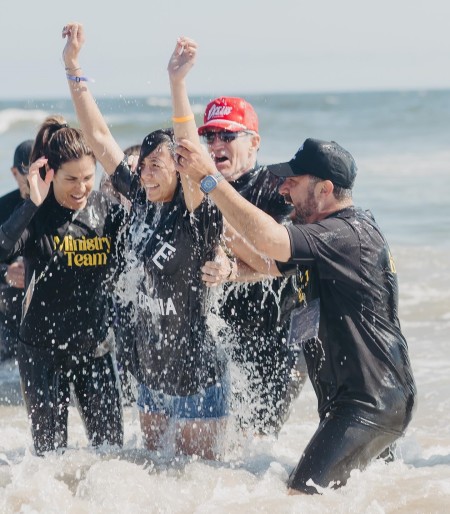
[[[68,24],[63,37],[68,84],[82,130],[114,187],[132,202],[131,229],[136,224],[145,229],[139,241],[144,277],[135,306],[134,369],[146,447],[160,448],[174,423],[177,453],[216,458],[217,437],[228,415],[225,363],[208,330],[200,268],[213,258],[222,219],[196,184],[180,179],[173,159],[175,138],[200,144],[185,87],[197,45],[180,38],[168,66],[175,136],[171,129],[146,136],[133,175],[83,77],[82,25]]]

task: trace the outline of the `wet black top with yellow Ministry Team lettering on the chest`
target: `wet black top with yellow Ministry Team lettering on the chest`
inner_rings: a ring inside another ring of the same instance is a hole
[[[35,277],[23,342],[78,353],[105,338],[107,283],[123,217],[122,207],[98,191],[79,211],[62,207],[50,192],[39,208],[23,202],[2,225],[0,259],[23,256],[26,288]]]

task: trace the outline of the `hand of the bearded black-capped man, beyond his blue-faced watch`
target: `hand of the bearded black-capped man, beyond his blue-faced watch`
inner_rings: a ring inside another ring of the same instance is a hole
[[[197,184],[206,175],[217,173],[214,161],[203,146],[197,146],[187,139],[180,139],[175,153],[177,171],[191,177]]]

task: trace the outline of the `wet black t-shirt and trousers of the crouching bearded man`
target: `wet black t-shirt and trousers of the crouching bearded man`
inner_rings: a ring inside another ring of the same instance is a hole
[[[321,419],[290,479],[292,487],[303,490],[312,478],[312,462],[319,485],[345,483],[352,468],[365,467],[401,436],[412,417],[416,389],[398,319],[395,266],[373,217],[349,207],[317,223],[291,225],[288,232],[292,258],[279,267],[303,266],[297,268],[300,296],[320,316],[318,333],[303,328]],[[367,432],[367,444],[340,430],[342,424]],[[341,464],[333,462],[336,447],[345,449]]]

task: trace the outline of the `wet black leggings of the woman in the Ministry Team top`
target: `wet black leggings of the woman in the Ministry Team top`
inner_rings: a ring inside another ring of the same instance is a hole
[[[67,446],[70,384],[90,444],[122,445],[122,405],[111,353],[95,358],[19,342],[17,359],[38,455]]]

